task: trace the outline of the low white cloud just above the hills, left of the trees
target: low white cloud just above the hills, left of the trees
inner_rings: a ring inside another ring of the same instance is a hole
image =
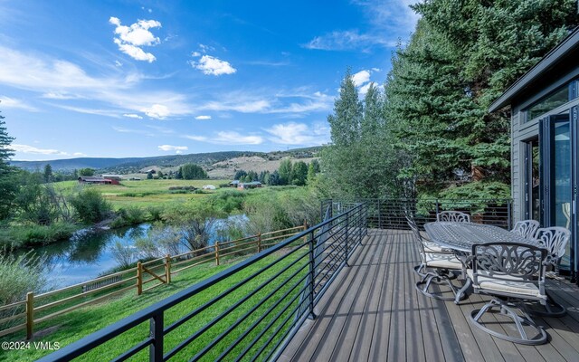
[[[305,123],[289,122],[264,130],[271,135],[271,142],[281,145],[321,145],[329,139],[329,129],[321,124],[309,127]]]

